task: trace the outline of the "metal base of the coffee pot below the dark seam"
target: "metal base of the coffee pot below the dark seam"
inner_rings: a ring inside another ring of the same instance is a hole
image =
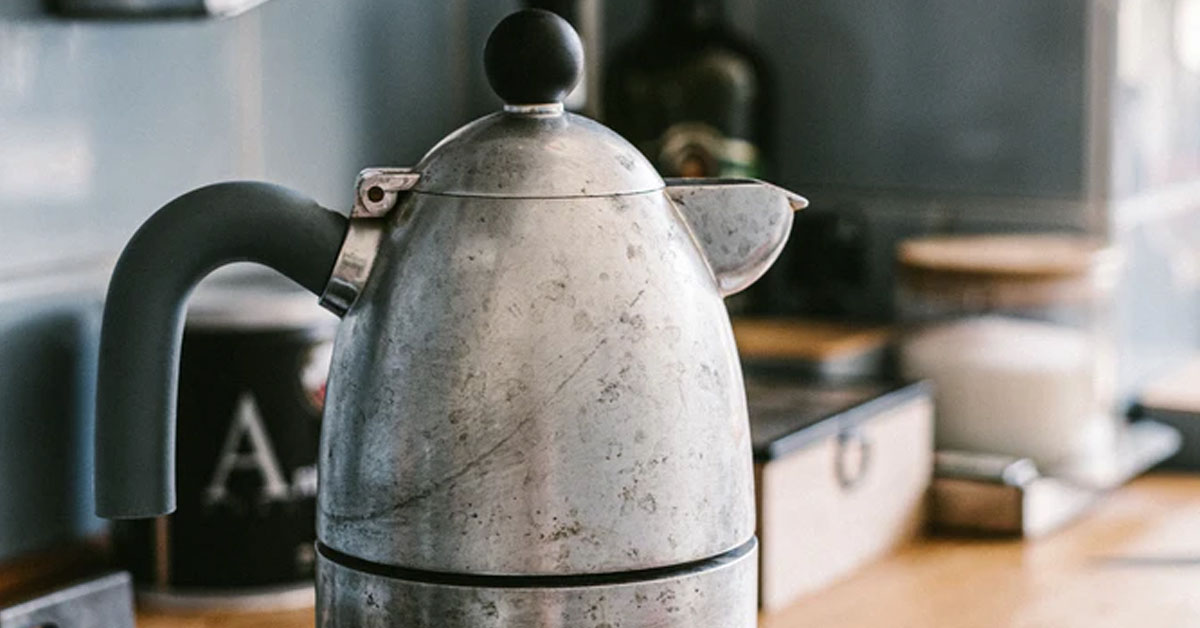
[[[754,628],[757,549],[708,569],[590,587],[433,585],[317,563],[323,628]]]

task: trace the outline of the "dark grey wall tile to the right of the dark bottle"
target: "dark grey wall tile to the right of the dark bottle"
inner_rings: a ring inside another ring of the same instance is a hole
[[[780,177],[1076,198],[1085,0],[760,0]]]

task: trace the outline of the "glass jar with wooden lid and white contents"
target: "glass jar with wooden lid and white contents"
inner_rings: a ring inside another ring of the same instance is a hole
[[[942,237],[904,243],[899,264],[900,369],[936,387],[938,448],[1040,467],[1111,450],[1111,250],[1063,234]]]

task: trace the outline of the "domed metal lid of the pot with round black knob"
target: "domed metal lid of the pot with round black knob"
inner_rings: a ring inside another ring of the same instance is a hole
[[[564,19],[540,10],[502,20],[484,53],[504,110],[455,131],[414,168],[414,192],[569,198],[660,190],[649,161],[606,126],[564,113],[583,48]]]

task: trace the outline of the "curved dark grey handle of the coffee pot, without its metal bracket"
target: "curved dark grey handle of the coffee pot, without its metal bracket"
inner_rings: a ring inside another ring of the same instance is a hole
[[[346,217],[284,187],[226,183],[155,213],[108,286],[96,391],[96,513],[175,509],[175,390],[187,295],[217,267],[258,262],[314,294],[334,268]]]

